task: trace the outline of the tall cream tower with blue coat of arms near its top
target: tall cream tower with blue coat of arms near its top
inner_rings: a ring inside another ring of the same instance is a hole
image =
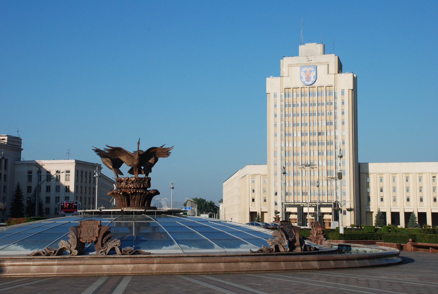
[[[299,226],[307,225],[307,201],[312,216],[321,207],[324,219],[332,219],[341,184],[344,226],[359,223],[358,213],[346,211],[357,211],[359,204],[357,76],[343,73],[339,57],[325,54],[324,44],[301,45],[299,52],[280,60],[279,77],[266,79],[267,216],[282,211],[283,196],[290,219]],[[339,146],[343,179],[333,181]],[[313,168],[302,168],[305,163]]]

